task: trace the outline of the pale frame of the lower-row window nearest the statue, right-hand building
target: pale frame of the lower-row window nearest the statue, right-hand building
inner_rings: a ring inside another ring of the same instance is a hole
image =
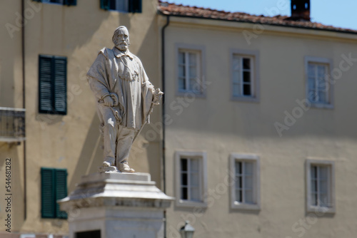
[[[176,151],[176,206],[178,207],[207,207],[207,155],[202,151]],[[181,199],[181,158],[192,158],[199,160],[201,201]]]

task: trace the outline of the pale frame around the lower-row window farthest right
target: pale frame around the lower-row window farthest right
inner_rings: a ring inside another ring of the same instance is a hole
[[[311,201],[311,166],[328,166],[328,199],[330,206],[321,207],[312,205]],[[306,160],[306,210],[307,212],[335,213],[335,162],[329,160]]]

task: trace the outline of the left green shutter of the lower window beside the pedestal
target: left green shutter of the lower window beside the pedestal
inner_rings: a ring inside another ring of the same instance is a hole
[[[41,168],[41,217],[56,217],[54,169]]]

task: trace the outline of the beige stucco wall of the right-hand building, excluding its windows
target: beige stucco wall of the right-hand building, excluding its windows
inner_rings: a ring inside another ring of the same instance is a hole
[[[164,19],[162,19],[164,24]],[[188,219],[194,237],[354,237],[357,211],[357,65],[343,72],[333,86],[333,109],[311,108],[279,137],[275,122],[283,123],[306,98],[304,57],[331,58],[339,67],[341,55],[357,58],[357,36],[263,26],[248,44],[243,31],[253,24],[171,17],[166,29],[166,193],[175,194],[177,150],[207,153],[208,197],[206,209],[171,206],[167,211],[168,237]],[[205,98],[176,96],[176,43],[206,48],[205,79],[210,84]],[[258,51],[260,100],[231,100],[231,48]],[[346,66],[346,63],[343,65]],[[183,103],[180,103],[180,100]],[[176,102],[172,105],[171,103]],[[181,105],[182,113],[178,110]],[[227,177],[232,152],[258,155],[261,159],[261,209],[230,209]],[[335,162],[336,213],[306,222],[305,161],[307,158]],[[209,192],[211,190],[211,192]],[[211,201],[211,200],[210,200]],[[303,225],[296,222],[301,222]],[[295,224],[295,227],[293,225]],[[302,228],[301,228],[302,227]]]

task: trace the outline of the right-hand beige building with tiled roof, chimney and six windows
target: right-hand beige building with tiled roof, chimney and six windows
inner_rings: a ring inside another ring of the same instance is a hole
[[[294,2],[293,18],[160,4],[167,237],[185,220],[197,238],[354,236],[357,34]]]

